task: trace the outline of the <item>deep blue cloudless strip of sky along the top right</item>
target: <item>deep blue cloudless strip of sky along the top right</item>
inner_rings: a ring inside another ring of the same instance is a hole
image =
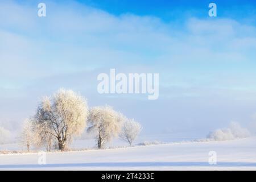
[[[193,15],[205,18],[208,9],[205,9],[209,3],[214,2],[218,5],[218,15],[226,18],[246,18],[248,16],[255,16],[255,2],[254,1],[79,1],[85,5],[90,5],[98,9],[108,11],[109,13],[120,15],[123,13],[133,13],[137,15],[154,15],[159,18],[169,21],[171,19],[179,19],[182,16]]]

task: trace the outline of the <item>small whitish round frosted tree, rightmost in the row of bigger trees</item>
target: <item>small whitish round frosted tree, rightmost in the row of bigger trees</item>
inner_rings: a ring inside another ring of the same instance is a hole
[[[137,138],[141,130],[142,126],[140,123],[138,123],[134,119],[127,119],[125,123],[123,123],[119,137],[131,145],[135,138]]]

